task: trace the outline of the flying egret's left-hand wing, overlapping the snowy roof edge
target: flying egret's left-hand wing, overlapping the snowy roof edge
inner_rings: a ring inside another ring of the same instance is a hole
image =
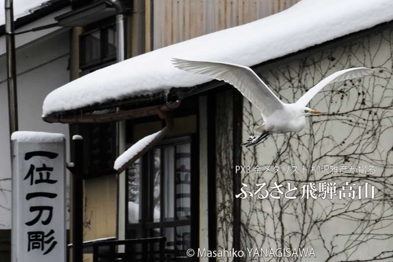
[[[283,103],[280,99],[250,67],[231,63],[192,61],[178,58],[172,58],[172,63],[179,69],[207,75],[231,84],[262,111],[264,118],[270,116],[275,110],[282,109]]]

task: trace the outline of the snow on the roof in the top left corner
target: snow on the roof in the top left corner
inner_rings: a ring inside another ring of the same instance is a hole
[[[0,25],[5,23],[4,0],[0,0]],[[14,20],[32,13],[48,0],[14,0]]]

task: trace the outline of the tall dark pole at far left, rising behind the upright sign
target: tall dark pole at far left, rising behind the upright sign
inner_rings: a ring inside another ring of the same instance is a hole
[[[10,135],[18,131],[18,97],[16,89],[14,12],[12,0],[5,0],[5,38],[7,50],[8,116]]]

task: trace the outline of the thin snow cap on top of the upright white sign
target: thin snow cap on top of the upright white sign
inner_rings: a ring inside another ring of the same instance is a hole
[[[63,134],[34,132],[34,131],[16,131],[12,133],[11,140],[20,143],[56,143],[65,140]]]

